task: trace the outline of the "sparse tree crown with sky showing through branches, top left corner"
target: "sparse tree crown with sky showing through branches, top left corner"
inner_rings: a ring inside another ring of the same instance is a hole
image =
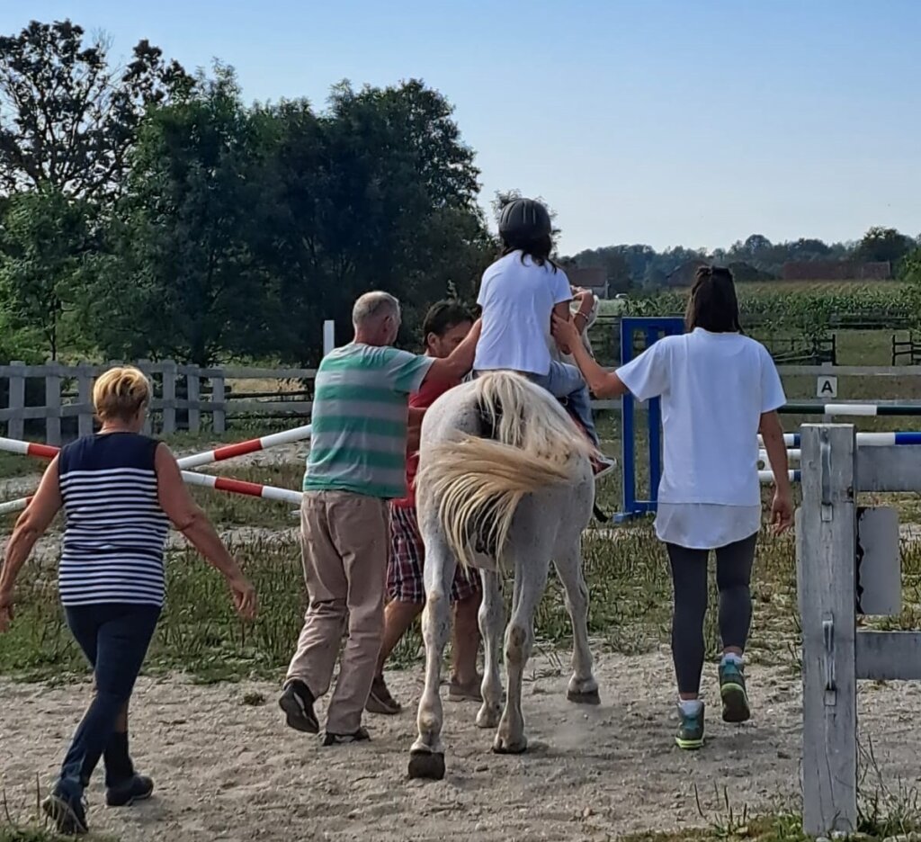
[[[116,192],[146,107],[191,83],[147,41],[138,42],[127,66],[113,67],[107,41],[84,36],[70,20],[33,20],[18,35],[0,37],[4,192]]]

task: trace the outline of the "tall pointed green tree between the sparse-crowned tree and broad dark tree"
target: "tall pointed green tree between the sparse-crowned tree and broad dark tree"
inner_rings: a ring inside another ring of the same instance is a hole
[[[230,68],[150,111],[85,313],[105,353],[207,366],[265,348],[266,284],[248,246],[258,161]]]

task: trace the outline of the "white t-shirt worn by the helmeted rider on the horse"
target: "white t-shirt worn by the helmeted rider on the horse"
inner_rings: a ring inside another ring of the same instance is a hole
[[[572,297],[565,272],[551,263],[522,261],[520,251],[497,260],[484,272],[476,301],[483,308],[483,327],[473,370],[546,374],[554,305]]]

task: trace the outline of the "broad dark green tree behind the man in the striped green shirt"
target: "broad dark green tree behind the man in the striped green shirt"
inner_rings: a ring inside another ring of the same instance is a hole
[[[271,185],[266,221],[254,231],[273,279],[281,357],[315,361],[322,320],[347,335],[352,304],[368,289],[401,298],[404,340],[449,282],[472,296],[492,241],[473,153],[451,113],[411,80],[360,91],[343,83],[319,115],[304,101],[258,115],[274,163],[262,180]]]

